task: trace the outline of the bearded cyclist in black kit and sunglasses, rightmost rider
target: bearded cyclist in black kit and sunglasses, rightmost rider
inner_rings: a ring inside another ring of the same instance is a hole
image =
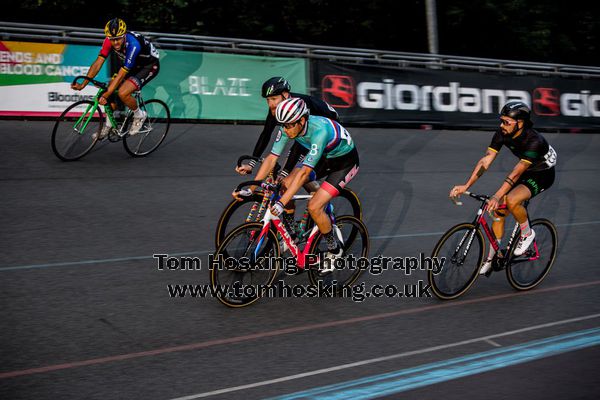
[[[504,198],[508,211],[521,225],[521,240],[514,252],[517,256],[523,254],[535,238],[535,232],[529,226],[527,210],[522,203],[552,186],[556,165],[556,152],[546,139],[532,128],[533,122],[530,117],[531,110],[522,101],[506,103],[500,111],[500,128],[494,134],[485,156],[479,160],[467,183],[454,186],[450,191],[450,197],[459,196],[467,191],[487,171],[502,146],[508,147],[519,158],[519,162],[490,199],[488,211],[495,213],[498,218],[492,223],[492,229],[500,244],[506,214],[496,210]],[[492,267],[491,260],[494,255],[495,250],[490,246],[488,257],[480,270],[481,274],[485,274]]]

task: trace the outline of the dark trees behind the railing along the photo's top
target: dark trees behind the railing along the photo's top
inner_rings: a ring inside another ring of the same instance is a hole
[[[16,7],[16,8],[15,8]],[[441,54],[598,65],[593,0],[437,0]],[[0,19],[422,52],[425,0],[23,0]],[[99,11],[98,11],[99,10]]]

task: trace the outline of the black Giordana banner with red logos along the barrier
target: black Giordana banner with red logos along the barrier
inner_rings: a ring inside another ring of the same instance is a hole
[[[600,127],[600,80],[316,61],[319,95],[345,122],[495,128],[509,100],[522,100],[540,128]]]

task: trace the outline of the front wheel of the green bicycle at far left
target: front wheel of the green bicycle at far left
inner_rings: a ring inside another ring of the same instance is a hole
[[[52,151],[63,161],[75,161],[92,150],[98,141],[92,136],[102,130],[104,118],[93,101],[71,104],[58,117],[52,130]]]

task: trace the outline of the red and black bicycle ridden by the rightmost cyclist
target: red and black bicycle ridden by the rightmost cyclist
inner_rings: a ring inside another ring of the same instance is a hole
[[[443,259],[443,267],[438,274],[431,270],[428,272],[429,283],[435,295],[443,300],[451,300],[471,288],[482,267],[485,254],[484,234],[489,245],[496,250],[492,269],[486,273],[487,276],[505,270],[508,282],[516,290],[529,290],[539,285],[550,272],[556,258],[558,234],[554,224],[544,218],[530,221],[530,226],[535,231],[535,240],[525,253],[516,256],[514,251],[520,240],[519,224],[515,224],[506,247],[500,249],[485,219],[490,197],[470,192],[465,194],[479,200],[481,205],[473,222],[453,226],[435,245],[432,257]],[[455,204],[462,205],[462,202],[454,201]],[[524,206],[527,207],[527,204],[526,201]],[[506,204],[498,209],[506,209]]]

